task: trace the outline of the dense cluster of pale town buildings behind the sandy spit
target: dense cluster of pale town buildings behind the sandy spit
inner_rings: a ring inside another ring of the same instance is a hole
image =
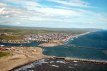
[[[68,39],[69,37],[74,36],[70,33],[42,33],[42,34],[29,34],[25,35],[26,41],[64,41]]]

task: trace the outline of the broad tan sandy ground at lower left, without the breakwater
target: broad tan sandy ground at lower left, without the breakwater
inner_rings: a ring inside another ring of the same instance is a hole
[[[0,58],[0,71],[9,71],[17,66],[24,65],[44,58],[42,49],[38,47],[11,47],[12,55]]]

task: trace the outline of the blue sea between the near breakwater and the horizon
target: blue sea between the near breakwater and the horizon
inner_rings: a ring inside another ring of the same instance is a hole
[[[61,46],[46,47],[43,54],[58,57],[107,60],[107,30],[71,38]]]

